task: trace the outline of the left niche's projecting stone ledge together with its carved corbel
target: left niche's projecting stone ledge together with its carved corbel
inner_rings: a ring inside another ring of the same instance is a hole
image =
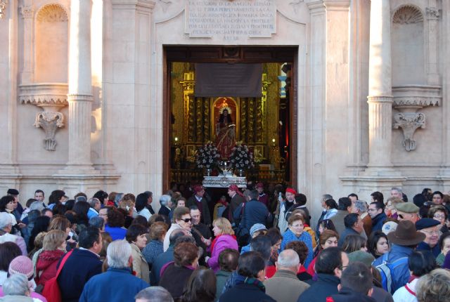
[[[45,150],[56,150],[56,130],[64,126],[64,115],[59,111],[68,105],[67,95],[67,84],[53,83],[19,86],[20,103],[30,103],[41,107],[43,110],[36,114],[33,126],[44,130]]]

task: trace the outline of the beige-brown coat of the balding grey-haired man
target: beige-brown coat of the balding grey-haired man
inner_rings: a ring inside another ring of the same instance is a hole
[[[274,277],[264,281],[266,294],[276,301],[297,302],[298,297],[309,284],[298,280],[297,275],[290,270],[277,270]]]

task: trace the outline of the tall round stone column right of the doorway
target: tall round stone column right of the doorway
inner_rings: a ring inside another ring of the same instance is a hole
[[[392,141],[392,64],[390,1],[371,1],[368,67],[368,170],[390,171]]]

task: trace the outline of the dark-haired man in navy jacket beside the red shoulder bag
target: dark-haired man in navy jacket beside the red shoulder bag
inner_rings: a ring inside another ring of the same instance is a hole
[[[98,256],[103,244],[100,230],[89,226],[79,233],[79,249],[74,249],[58,275],[58,285],[63,301],[77,302],[84,284],[101,273],[102,262]],[[60,263],[58,263],[59,268]]]

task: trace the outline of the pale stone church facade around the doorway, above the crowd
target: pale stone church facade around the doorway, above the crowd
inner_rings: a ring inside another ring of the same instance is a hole
[[[314,214],[324,193],[450,189],[450,1],[0,0],[0,12],[1,191],[158,196],[169,58],[227,62],[236,48],[252,50],[245,62],[295,50],[290,183]]]

